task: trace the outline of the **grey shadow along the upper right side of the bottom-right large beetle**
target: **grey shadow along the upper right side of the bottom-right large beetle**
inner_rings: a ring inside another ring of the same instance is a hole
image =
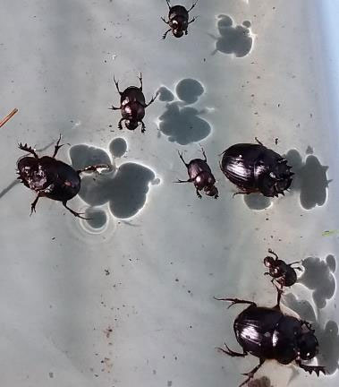
[[[312,323],[319,342],[319,353],[317,355],[319,366],[326,367],[326,374],[335,374],[339,368],[339,335],[338,324],[328,320],[325,325],[318,323],[321,311],[316,313],[308,301],[298,300],[292,293],[284,296],[284,304],[300,315],[302,320]]]

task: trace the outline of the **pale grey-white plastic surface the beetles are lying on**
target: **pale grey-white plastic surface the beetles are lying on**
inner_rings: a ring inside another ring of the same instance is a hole
[[[0,130],[2,387],[239,385],[258,359],[216,350],[239,349],[233,319],[242,308],[213,297],[274,305],[263,276],[268,247],[286,262],[311,257],[284,304],[317,320],[318,364],[330,375],[267,362],[258,377],[338,385],[335,3],[199,0],[188,36],[163,41],[165,0],[4,1],[0,116],[19,113]],[[146,110],[145,134],[120,132],[120,113],[107,109],[119,102],[113,75],[123,89],[140,72],[147,100],[162,92]],[[47,199],[30,217],[34,194],[13,185],[17,142],[50,144],[50,154],[59,133],[71,144],[59,159],[110,159],[123,171],[118,180],[86,176],[87,202],[69,202],[100,204],[89,209],[94,228]],[[233,198],[217,155],[255,136],[297,172],[285,197]],[[218,200],[174,185],[187,178],[177,150],[199,157],[199,142]]]

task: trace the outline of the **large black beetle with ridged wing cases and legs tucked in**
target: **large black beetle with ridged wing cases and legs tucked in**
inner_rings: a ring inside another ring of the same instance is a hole
[[[292,183],[290,166],[287,160],[258,144],[238,143],[225,150],[220,168],[224,175],[238,188],[240,193],[262,193],[264,196],[284,195]],[[235,193],[236,194],[236,193]]]

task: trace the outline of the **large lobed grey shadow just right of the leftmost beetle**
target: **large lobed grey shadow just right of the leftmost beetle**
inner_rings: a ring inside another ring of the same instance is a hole
[[[116,143],[113,142],[109,145],[110,150],[116,150]],[[122,143],[123,139],[119,139],[119,142],[119,150],[122,147],[127,149],[127,143]],[[111,165],[110,156],[105,150],[89,147],[86,144],[73,146],[70,157],[72,165],[77,168],[83,164],[89,165],[90,162],[106,162]],[[81,179],[79,195],[92,207],[108,202],[109,209],[116,218],[126,219],[131,218],[144,207],[148,186],[153,182],[158,183],[151,169],[138,163],[127,162],[99,175],[84,176]]]

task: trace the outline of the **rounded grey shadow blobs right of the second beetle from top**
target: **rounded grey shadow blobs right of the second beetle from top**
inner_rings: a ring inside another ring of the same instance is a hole
[[[160,100],[172,101],[174,94],[164,86],[160,88]],[[167,103],[165,113],[159,116],[159,130],[170,142],[187,145],[199,142],[211,132],[211,126],[200,117],[204,110],[190,107],[197,102],[205,90],[202,84],[193,79],[183,79],[175,88],[179,101]]]

